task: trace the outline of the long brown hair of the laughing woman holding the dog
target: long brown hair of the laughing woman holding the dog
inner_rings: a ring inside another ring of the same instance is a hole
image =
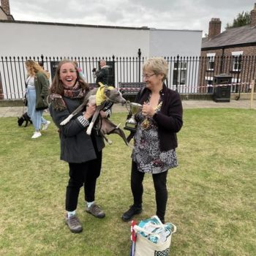
[[[78,64],[77,64],[77,62],[70,61],[69,59],[63,59],[62,61],[59,62],[59,65],[56,69],[56,73],[55,73],[54,78],[53,78],[53,83],[50,86],[50,93],[51,94],[60,94],[60,95],[64,94],[64,86],[63,86],[63,83],[60,80],[59,72],[61,70],[61,66],[65,63],[71,63],[75,67],[75,69],[77,71],[77,75],[78,75],[78,83],[80,85],[80,88],[89,90],[89,84],[86,83],[86,81],[83,80],[83,78],[81,78],[79,73],[78,73]]]

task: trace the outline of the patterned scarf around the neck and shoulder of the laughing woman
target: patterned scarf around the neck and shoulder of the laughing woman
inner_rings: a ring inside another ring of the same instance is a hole
[[[78,83],[76,83],[75,86],[72,87],[72,89],[64,86],[64,97],[70,99],[81,99],[86,96],[86,93],[86,89],[81,89]],[[52,103],[53,109],[55,110],[61,111],[67,109],[67,105],[60,94],[50,94],[49,101],[50,103]]]

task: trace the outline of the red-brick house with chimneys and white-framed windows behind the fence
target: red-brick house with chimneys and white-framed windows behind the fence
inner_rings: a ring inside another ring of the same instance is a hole
[[[236,83],[233,92],[238,86],[248,87],[250,80],[256,78],[256,4],[250,12],[249,25],[221,33],[221,24],[219,18],[212,18],[208,37],[202,40],[199,84],[208,93],[212,91],[214,75],[231,75],[232,83]]]

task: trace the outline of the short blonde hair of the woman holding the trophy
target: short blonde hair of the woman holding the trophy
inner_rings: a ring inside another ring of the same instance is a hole
[[[164,75],[162,81],[167,78],[168,64],[162,57],[152,57],[143,64],[143,72],[152,71],[156,75]]]

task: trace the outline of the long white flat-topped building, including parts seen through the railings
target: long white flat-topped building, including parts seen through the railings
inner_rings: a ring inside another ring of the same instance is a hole
[[[121,26],[89,26],[66,23],[43,23],[17,20],[0,20],[0,57],[83,57],[83,58],[148,58],[150,56],[200,56],[202,31],[151,29],[148,27],[121,27]],[[19,98],[20,94],[14,91],[23,91],[23,78],[10,79],[7,72],[8,64],[0,61],[0,85],[4,98]],[[4,65],[6,67],[4,67]],[[116,65],[117,66],[117,65]],[[129,69],[126,63],[121,76],[114,75],[116,86],[119,82],[138,82],[140,71]],[[52,71],[50,63],[49,71]],[[178,63],[170,67],[170,87],[175,82],[186,86],[188,65]],[[113,74],[120,75],[116,69]],[[13,72],[15,72],[15,69]],[[197,72],[197,70],[195,70]],[[195,74],[195,72],[193,72]],[[129,73],[129,75],[128,75]],[[18,74],[14,73],[14,76]],[[88,74],[87,74],[88,75]],[[128,78],[129,76],[129,78]],[[176,78],[176,80],[174,80]],[[20,82],[17,82],[21,80]],[[197,80],[197,78],[196,78]],[[89,83],[94,83],[91,75]],[[15,88],[15,89],[13,89]],[[183,92],[186,92],[186,90]],[[188,91],[187,91],[188,92]],[[195,91],[191,91],[195,92]],[[13,96],[13,94],[15,96]]]

